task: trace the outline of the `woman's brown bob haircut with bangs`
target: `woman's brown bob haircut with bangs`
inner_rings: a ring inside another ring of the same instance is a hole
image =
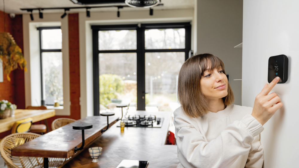
[[[200,117],[208,113],[208,102],[200,88],[200,79],[205,70],[213,70],[222,67],[224,64],[212,54],[199,54],[187,59],[182,65],[178,81],[178,97],[184,113],[192,118]],[[234,94],[228,83],[228,95],[223,97],[225,107],[234,102]]]

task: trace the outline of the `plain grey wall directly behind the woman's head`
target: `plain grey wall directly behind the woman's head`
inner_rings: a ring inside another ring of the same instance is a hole
[[[234,46],[242,42],[242,0],[197,0],[197,52],[218,56],[230,76],[235,102],[241,105],[242,48]]]

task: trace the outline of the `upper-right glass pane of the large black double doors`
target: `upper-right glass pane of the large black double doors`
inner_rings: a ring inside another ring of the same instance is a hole
[[[145,49],[184,49],[185,29],[145,30]]]

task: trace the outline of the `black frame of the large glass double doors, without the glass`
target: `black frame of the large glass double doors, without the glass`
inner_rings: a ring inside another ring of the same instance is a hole
[[[185,29],[184,49],[145,49],[145,30],[149,29]],[[100,115],[100,79],[99,54],[100,53],[137,53],[137,110],[145,110],[145,53],[184,52],[185,61],[189,58],[191,50],[191,24],[183,23],[156,23],[156,24],[126,24],[126,25],[92,25],[93,43],[93,86],[94,86],[94,115]],[[101,30],[136,30],[136,50],[99,50],[98,32]],[[142,98],[144,97],[144,98]]]

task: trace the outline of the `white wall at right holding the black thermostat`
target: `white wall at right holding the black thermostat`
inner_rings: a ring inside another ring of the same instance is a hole
[[[265,168],[299,167],[298,7],[296,0],[244,0],[243,106],[253,107],[255,96],[267,83],[269,57],[284,54],[289,58],[288,81],[272,90],[284,105],[261,133]]]

